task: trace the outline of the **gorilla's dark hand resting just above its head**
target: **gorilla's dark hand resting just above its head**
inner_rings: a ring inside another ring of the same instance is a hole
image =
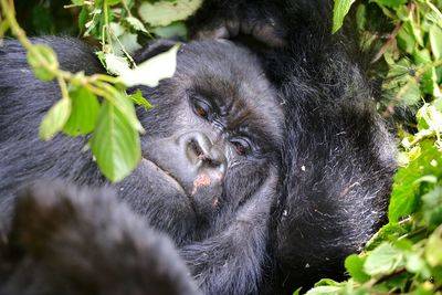
[[[190,21],[191,35],[193,39],[231,39],[249,46],[260,43],[283,48],[286,31],[281,7],[276,8],[273,1],[263,2],[207,0]]]

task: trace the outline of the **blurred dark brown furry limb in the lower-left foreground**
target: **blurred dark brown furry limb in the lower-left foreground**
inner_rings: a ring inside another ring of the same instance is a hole
[[[197,294],[169,239],[107,190],[30,186],[8,228],[0,294]]]

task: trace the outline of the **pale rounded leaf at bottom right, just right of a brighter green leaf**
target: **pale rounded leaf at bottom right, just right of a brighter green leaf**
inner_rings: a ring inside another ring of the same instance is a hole
[[[373,276],[391,274],[403,265],[403,255],[389,243],[382,243],[375,249],[364,264],[364,271]]]

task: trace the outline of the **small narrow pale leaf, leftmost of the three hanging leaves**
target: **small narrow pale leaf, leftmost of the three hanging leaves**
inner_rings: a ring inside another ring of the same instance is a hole
[[[40,125],[39,136],[42,140],[51,139],[61,131],[71,115],[71,99],[69,97],[56,102],[43,117]]]

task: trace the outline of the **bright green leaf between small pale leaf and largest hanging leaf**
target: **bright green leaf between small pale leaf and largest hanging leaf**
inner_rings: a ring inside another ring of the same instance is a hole
[[[70,92],[72,98],[71,116],[63,131],[71,136],[86,135],[95,128],[99,103],[97,97],[84,87]]]

